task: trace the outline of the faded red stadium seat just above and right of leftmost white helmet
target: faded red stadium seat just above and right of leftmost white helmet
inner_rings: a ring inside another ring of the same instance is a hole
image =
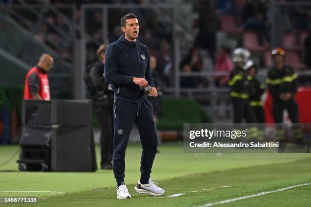
[[[264,41],[264,45],[259,45],[255,32],[244,32],[242,42],[244,48],[255,52],[263,52],[268,48],[266,41]]]

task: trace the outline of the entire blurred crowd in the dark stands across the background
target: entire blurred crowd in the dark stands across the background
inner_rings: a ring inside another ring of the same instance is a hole
[[[2,1],[8,3],[10,1]],[[25,0],[28,4],[37,4],[37,1]],[[73,42],[64,38],[63,33],[70,33],[71,28],[66,21],[74,20],[76,28],[74,34],[77,39],[81,38],[79,25],[81,23],[82,4],[135,4],[146,5],[152,3],[163,3],[164,1],[145,0],[45,0],[45,4],[56,6],[74,5],[77,10],[73,14],[66,8],[59,8],[63,14],[55,15],[54,12],[46,12],[44,21],[37,25],[35,37],[49,45],[55,52],[61,55],[64,60],[73,60]],[[278,0],[276,2],[295,2],[290,0]],[[303,1],[300,1],[303,2]],[[309,2],[309,1],[305,1]],[[20,4],[20,1],[13,1]],[[269,21],[269,8],[271,1],[268,0],[184,0],[184,3],[192,3],[193,13],[197,18],[191,25],[197,29],[197,34],[193,46],[184,57],[181,57],[180,71],[183,74],[193,72],[215,71],[229,72],[233,69],[231,61],[232,51],[236,47],[244,47],[253,52],[259,67],[271,67],[271,22]],[[87,64],[97,61],[96,49],[103,43],[103,11],[102,9],[85,10],[85,30],[87,34]],[[135,13],[140,23],[139,41],[147,45],[150,54],[157,59],[156,71],[166,87],[173,86],[173,42],[172,25],[163,21],[163,17],[155,9],[109,9],[108,10],[108,41],[112,42],[121,36],[119,18],[126,13]],[[161,10],[170,13],[170,11]],[[278,15],[282,17],[282,25],[278,29],[283,34],[283,40],[279,42],[287,50],[286,62],[292,63],[296,69],[311,68],[311,10],[309,7],[280,7]],[[22,14],[22,13],[21,13]],[[25,12],[26,21],[35,23],[36,16]],[[25,26],[27,28],[27,26]],[[31,29],[31,28],[28,28]],[[237,45],[232,48],[226,44],[217,43],[217,32],[227,32],[230,38],[237,41]],[[279,40],[278,40],[279,41]],[[206,68],[202,51],[206,51],[210,58],[212,68]],[[257,58],[256,58],[257,56]],[[228,86],[228,76],[213,76],[216,87]],[[182,76],[180,86],[182,88],[207,87],[210,83],[205,77]]]

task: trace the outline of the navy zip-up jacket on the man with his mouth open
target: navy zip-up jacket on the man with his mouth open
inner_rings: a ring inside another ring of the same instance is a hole
[[[134,77],[145,78],[153,86],[147,46],[128,41],[123,34],[108,46],[104,68],[105,80],[111,83],[115,99],[131,102],[147,99],[144,88],[133,82]]]

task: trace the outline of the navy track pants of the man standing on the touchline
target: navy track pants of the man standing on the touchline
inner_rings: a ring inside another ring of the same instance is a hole
[[[158,135],[153,121],[153,107],[148,100],[133,103],[125,100],[114,101],[113,172],[117,185],[125,178],[125,154],[129,136],[135,123],[142,145],[140,161],[141,179],[149,179],[158,147]]]

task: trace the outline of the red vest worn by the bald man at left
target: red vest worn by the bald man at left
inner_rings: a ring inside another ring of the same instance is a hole
[[[37,73],[39,76],[38,94],[41,96],[42,100],[50,100],[50,86],[49,86],[48,76],[46,73],[42,73],[37,66],[34,66],[33,68],[31,68],[26,75],[24,99],[33,99],[32,94],[30,93],[29,86],[28,86],[28,79],[29,79],[30,74],[32,73]]]

